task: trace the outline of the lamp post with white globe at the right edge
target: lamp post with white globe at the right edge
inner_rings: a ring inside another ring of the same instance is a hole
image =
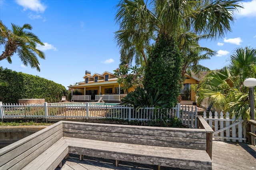
[[[255,120],[254,117],[254,87],[256,86],[255,78],[248,78],[244,80],[244,86],[249,88],[249,101],[250,101],[250,119]]]

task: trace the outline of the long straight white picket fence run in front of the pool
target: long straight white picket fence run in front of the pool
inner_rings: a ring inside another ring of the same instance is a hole
[[[164,112],[164,113],[163,113]],[[180,117],[180,104],[172,109],[140,108],[112,103],[47,103],[36,105],[3,104],[0,102],[0,119],[123,119],[150,121],[172,116]],[[166,119],[166,121],[168,121]]]

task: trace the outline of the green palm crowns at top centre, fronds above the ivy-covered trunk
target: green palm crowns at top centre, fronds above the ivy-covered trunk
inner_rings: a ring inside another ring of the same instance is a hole
[[[145,49],[159,36],[170,37],[190,30],[206,34],[207,38],[220,38],[231,31],[233,12],[239,0],[121,0],[116,6],[116,22],[120,26],[115,34],[117,44],[124,49],[135,46],[145,63]],[[186,37],[185,37],[186,38]],[[178,38],[177,38],[178,40]],[[183,47],[183,41],[180,46]]]

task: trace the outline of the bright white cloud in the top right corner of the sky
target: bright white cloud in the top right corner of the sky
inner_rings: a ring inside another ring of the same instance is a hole
[[[236,11],[236,16],[238,17],[256,17],[256,0],[242,2],[240,4],[244,8],[239,8],[238,12]]]

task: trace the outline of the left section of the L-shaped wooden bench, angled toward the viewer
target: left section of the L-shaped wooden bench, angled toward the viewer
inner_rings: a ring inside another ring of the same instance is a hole
[[[0,149],[0,170],[54,170],[66,155],[68,144],[58,122]]]

